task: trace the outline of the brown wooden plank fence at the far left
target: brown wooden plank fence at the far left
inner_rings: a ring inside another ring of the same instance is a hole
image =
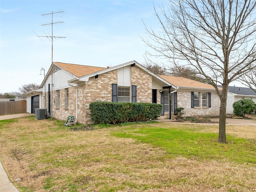
[[[26,101],[0,101],[0,115],[26,113]]]

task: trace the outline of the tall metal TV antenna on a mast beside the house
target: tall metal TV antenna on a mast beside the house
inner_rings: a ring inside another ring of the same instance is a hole
[[[41,14],[41,16],[49,16],[49,15],[52,15],[52,22],[50,23],[46,23],[46,24],[41,24],[41,26],[48,26],[48,25],[51,25],[52,26],[52,35],[46,35],[45,33],[45,36],[38,36],[34,31],[34,33],[41,39],[41,37],[47,37],[49,40],[51,39],[52,40],[52,63],[53,63],[53,38],[66,38],[66,37],[61,37],[61,36],[54,36],[53,35],[53,25],[54,24],[61,24],[61,23],[64,23],[64,21],[57,21],[57,22],[53,22],[53,15],[54,14],[64,14],[64,11],[58,11],[58,12],[51,12],[51,13],[46,13],[46,14]],[[42,40],[42,39],[41,39]],[[52,73],[53,73],[53,64],[52,64]],[[44,82],[45,83],[45,82]],[[52,77],[52,89],[53,89],[53,77]],[[50,104],[50,107],[48,108],[51,108],[51,110],[49,110],[49,113],[51,114],[51,119],[52,119],[52,96],[53,94],[51,94],[51,104]]]

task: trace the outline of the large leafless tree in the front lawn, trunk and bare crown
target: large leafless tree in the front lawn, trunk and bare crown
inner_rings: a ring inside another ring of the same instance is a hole
[[[155,14],[162,31],[147,28],[153,49],[171,66],[196,70],[220,98],[218,142],[226,143],[228,84],[256,68],[255,0],[170,0]],[[216,84],[221,84],[220,91]]]

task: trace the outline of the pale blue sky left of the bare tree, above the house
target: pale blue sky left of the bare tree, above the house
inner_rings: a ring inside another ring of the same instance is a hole
[[[1,0],[0,1],[0,92],[18,91],[24,84],[41,84],[52,61],[89,66],[116,66],[136,60],[143,64],[147,49],[144,24],[158,29],[154,6],[166,0]],[[36,32],[36,34],[34,32]]]

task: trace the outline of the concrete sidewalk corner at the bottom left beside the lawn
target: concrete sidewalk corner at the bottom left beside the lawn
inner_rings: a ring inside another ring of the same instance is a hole
[[[0,192],[19,192],[12,182],[10,182],[2,162],[0,162]]]

